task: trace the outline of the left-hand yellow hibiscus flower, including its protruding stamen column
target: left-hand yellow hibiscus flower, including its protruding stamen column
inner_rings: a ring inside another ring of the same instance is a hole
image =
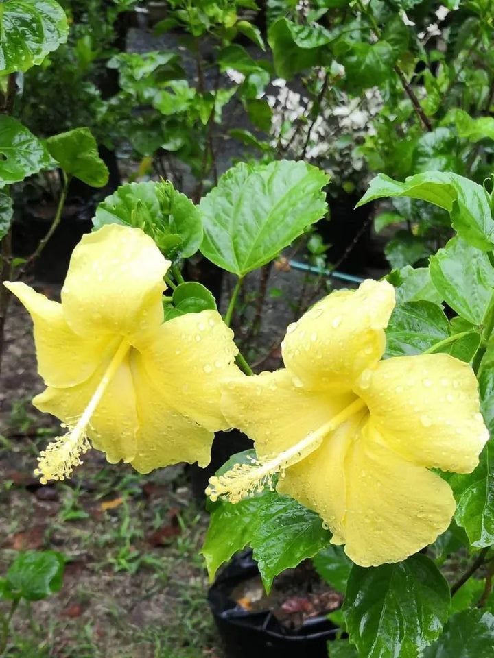
[[[237,371],[233,332],[215,310],[163,323],[169,268],[138,228],[112,224],[75,247],[62,303],[6,282],[34,321],[38,371],[33,400],[68,432],[41,453],[42,483],[63,480],[91,447],[141,473],[178,461],[209,463],[222,376]]]

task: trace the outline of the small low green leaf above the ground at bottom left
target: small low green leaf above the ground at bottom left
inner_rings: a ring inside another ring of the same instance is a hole
[[[5,576],[4,596],[38,601],[62,587],[64,557],[55,550],[21,553]]]

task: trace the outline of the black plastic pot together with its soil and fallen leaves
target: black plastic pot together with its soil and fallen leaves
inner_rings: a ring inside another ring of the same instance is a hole
[[[342,595],[320,581],[310,561],[274,579],[266,595],[250,552],[228,563],[209,590],[226,658],[327,658],[339,629],[327,614]]]

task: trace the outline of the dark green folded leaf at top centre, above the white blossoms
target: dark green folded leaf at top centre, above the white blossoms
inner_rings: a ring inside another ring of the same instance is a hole
[[[298,25],[281,17],[268,29],[277,75],[291,80],[298,71],[324,64],[329,56],[324,47],[332,40],[322,25]]]

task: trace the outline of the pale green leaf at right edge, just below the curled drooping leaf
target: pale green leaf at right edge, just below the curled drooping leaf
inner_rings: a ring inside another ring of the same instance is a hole
[[[494,287],[487,254],[456,236],[430,258],[429,271],[443,300],[472,324],[482,324]]]

